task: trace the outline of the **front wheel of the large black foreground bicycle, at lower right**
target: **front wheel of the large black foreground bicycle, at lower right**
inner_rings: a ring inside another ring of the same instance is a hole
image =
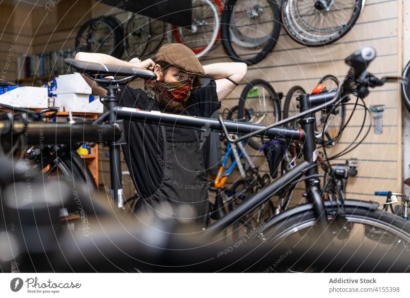
[[[371,272],[377,263],[365,262],[369,251],[383,251],[385,254],[381,257],[409,255],[410,226],[400,217],[378,210],[375,203],[346,200],[344,208],[338,210],[328,202],[326,211],[330,224],[324,232],[317,229],[312,205],[302,204],[268,221],[260,230],[263,236],[259,239],[290,250],[305,248],[305,257],[288,264],[288,271],[321,272],[328,266],[335,270],[333,262],[345,258],[348,252],[347,260],[365,253],[363,263],[353,264],[353,271]],[[306,256],[314,253],[314,247],[321,247],[320,254],[331,254],[330,262],[323,262],[320,258],[306,262]],[[345,266],[346,263],[342,263],[336,270],[344,271]],[[352,264],[347,267],[352,270]]]

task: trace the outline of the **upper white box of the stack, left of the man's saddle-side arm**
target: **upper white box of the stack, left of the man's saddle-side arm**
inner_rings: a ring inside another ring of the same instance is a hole
[[[79,73],[59,75],[55,78],[55,82],[56,90],[53,90],[52,94],[91,94],[91,87]]]

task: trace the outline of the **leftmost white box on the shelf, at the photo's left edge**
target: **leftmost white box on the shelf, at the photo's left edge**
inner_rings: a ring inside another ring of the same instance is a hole
[[[0,95],[0,102],[17,108],[47,108],[47,88],[18,87]]]

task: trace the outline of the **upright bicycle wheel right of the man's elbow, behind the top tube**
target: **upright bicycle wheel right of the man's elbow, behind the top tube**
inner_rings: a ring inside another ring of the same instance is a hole
[[[275,89],[267,81],[256,79],[243,88],[238,104],[238,118],[245,118],[245,110],[249,110],[251,119],[248,122],[269,125],[280,121],[280,99]],[[252,137],[248,143],[259,150],[263,138]]]

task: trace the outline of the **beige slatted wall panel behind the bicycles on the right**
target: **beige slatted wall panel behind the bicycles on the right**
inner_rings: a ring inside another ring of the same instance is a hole
[[[231,108],[236,105],[244,84],[256,78],[269,81],[277,92],[284,94],[295,85],[310,91],[326,74],[336,75],[339,80],[342,80],[348,70],[344,58],[347,54],[367,45],[374,47],[378,54],[378,58],[370,66],[371,72],[379,76],[398,75],[401,73],[402,65],[400,7],[401,2],[397,0],[367,0],[363,13],[353,29],[339,43],[321,48],[305,48],[293,41],[282,29],[271,56],[248,68],[248,73],[240,86],[229,98],[222,101],[222,106]],[[208,57],[202,59],[202,62],[229,61],[223,55],[223,49],[219,47],[210,52]],[[377,200],[373,195],[376,190],[401,191],[402,131],[401,101],[398,90],[397,84],[386,84],[365,99],[367,105],[386,105],[386,111],[383,114],[383,134],[376,135],[372,127],[361,145],[334,161],[334,163],[344,163],[350,157],[360,159],[357,177],[349,178],[347,184],[348,198]],[[353,106],[346,108],[347,119]],[[355,139],[360,131],[363,117],[364,110],[357,109],[339,143],[329,153],[330,156],[346,148]],[[367,114],[366,125],[369,125],[368,119]],[[247,149],[256,155],[254,161],[257,165],[263,164],[263,155],[249,147]],[[266,170],[262,173],[267,172]],[[239,179],[237,173],[229,178],[229,182],[236,179]],[[304,184],[298,185],[298,189],[300,198]],[[383,199],[385,200],[385,198],[380,198],[380,200]]]

